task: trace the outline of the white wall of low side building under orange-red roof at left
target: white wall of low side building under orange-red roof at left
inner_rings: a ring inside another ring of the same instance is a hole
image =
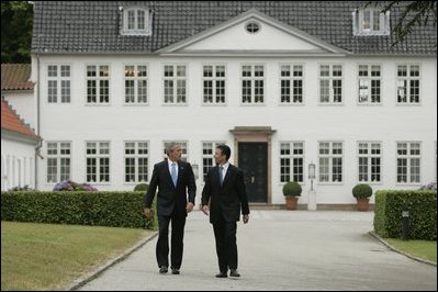
[[[35,146],[1,139],[1,190],[35,188]]]

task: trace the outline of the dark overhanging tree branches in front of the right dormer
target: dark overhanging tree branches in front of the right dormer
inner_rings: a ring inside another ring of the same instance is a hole
[[[392,46],[402,42],[416,26],[426,26],[430,23],[437,26],[437,1],[369,1],[367,5],[383,7],[382,12],[392,8],[400,8],[400,15],[393,29],[396,41]]]

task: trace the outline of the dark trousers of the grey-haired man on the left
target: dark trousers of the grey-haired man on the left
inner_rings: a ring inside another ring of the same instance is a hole
[[[158,242],[156,256],[158,267],[169,267],[169,223],[171,222],[171,249],[170,268],[179,269],[182,262],[183,237],[186,216],[177,216],[176,212],[171,216],[158,215]]]

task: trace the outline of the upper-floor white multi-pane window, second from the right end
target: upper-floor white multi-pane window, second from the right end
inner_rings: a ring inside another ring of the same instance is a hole
[[[359,103],[378,104],[381,102],[381,66],[359,65]]]

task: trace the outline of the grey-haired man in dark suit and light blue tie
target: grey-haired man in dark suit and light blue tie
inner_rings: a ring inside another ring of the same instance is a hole
[[[169,267],[169,223],[172,224],[170,268],[173,274],[180,273],[183,250],[186,217],[193,210],[196,184],[189,162],[181,161],[181,146],[170,143],[166,149],[168,159],[154,166],[149,188],[145,194],[144,213],[153,216],[151,204],[157,194],[158,242],[156,248],[160,273]],[[187,198],[189,194],[189,200]]]

